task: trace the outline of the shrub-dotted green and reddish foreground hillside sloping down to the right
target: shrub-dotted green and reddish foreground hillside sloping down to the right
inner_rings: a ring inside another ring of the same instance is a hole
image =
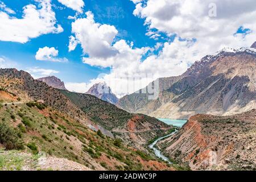
[[[125,146],[121,140],[92,131],[67,114],[35,102],[1,104],[0,133],[0,148],[32,153],[35,157],[44,151],[48,156],[69,159],[89,169],[172,169]]]

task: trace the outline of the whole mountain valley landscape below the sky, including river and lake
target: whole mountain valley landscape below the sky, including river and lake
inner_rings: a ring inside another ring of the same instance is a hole
[[[206,56],[155,100],[0,69],[0,170],[256,170],[255,55]]]

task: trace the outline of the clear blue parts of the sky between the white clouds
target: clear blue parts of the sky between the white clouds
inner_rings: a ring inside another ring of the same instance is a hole
[[[3,0],[6,6],[13,9],[17,18],[21,18],[22,8],[28,4],[36,3],[34,1],[7,1]],[[68,52],[69,36],[71,35],[71,23],[73,20],[68,16],[74,16],[76,11],[61,5],[56,0],[52,5],[63,7],[59,9],[52,7],[56,13],[57,23],[61,24],[64,32],[60,34],[41,35],[38,38],[30,39],[27,43],[2,42],[0,41],[0,55],[18,63],[19,69],[39,67],[43,69],[54,69],[59,73],[54,74],[65,82],[88,82],[90,79],[97,77],[100,73],[109,73],[110,68],[92,67],[82,63],[82,49],[77,46],[75,51]],[[101,24],[111,24],[118,30],[117,40],[125,39],[133,41],[135,47],[155,46],[156,40],[146,36],[147,27],[143,26],[143,19],[133,15],[135,5],[131,1],[101,1],[86,0],[84,11],[92,11],[95,21]],[[81,15],[85,16],[85,15]],[[58,57],[66,57],[68,63],[52,63],[49,61],[38,61],[35,54],[39,48],[55,47],[59,50]]]

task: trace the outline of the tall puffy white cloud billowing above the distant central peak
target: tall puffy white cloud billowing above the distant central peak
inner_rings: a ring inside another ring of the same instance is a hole
[[[118,52],[112,47],[112,42],[118,33],[117,29],[108,24],[94,22],[94,16],[90,11],[86,15],[86,18],[77,19],[72,23],[72,32],[76,41],[81,43],[84,53],[99,59],[116,55]],[[74,46],[71,47],[75,49]],[[72,49],[69,48],[69,51]]]

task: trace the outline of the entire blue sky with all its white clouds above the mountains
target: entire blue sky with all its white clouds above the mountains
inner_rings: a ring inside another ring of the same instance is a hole
[[[76,92],[105,81],[121,97],[224,47],[249,47],[255,7],[254,0],[0,0],[0,67],[55,75]],[[142,83],[131,81],[138,77]]]

